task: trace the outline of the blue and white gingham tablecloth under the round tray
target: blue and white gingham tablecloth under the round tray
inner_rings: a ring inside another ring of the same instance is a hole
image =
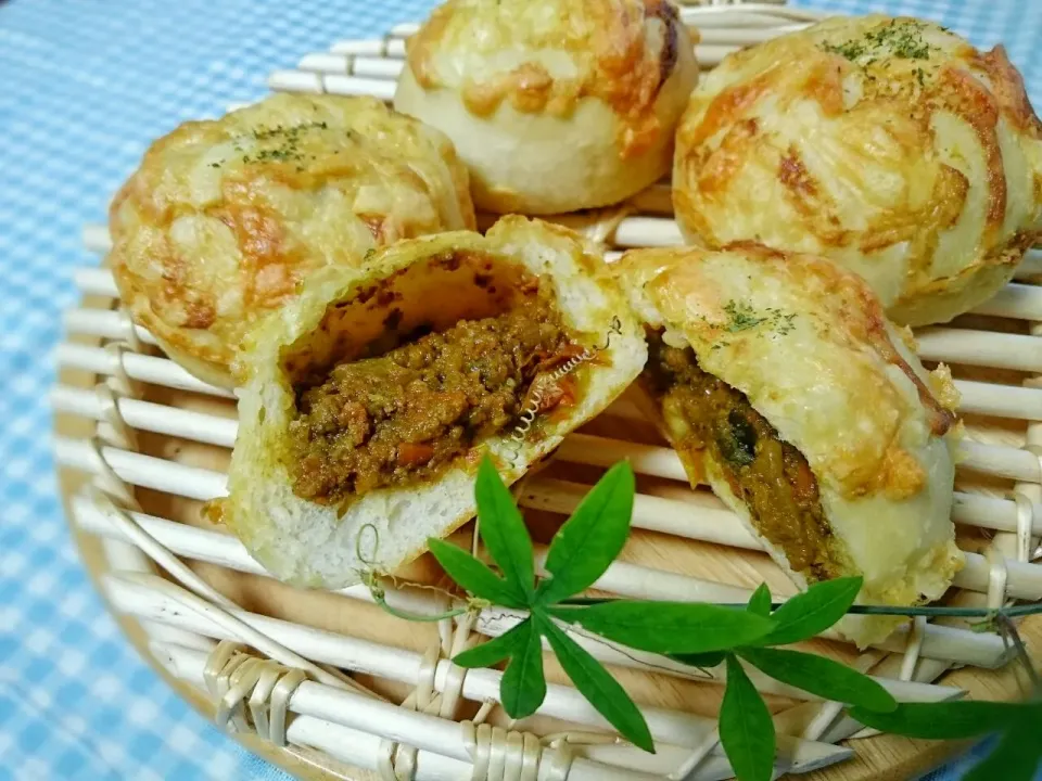
[[[0,781],[285,779],[135,654],[80,567],[56,494],[48,389],[80,227],[149,141],[266,92],[275,68],[383,34],[431,0],[0,0]],[[1040,0],[804,0],[1005,41],[1042,107]],[[933,779],[954,779],[966,758]]]

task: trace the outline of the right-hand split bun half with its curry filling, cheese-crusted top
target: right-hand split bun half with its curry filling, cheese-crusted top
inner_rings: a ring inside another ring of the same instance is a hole
[[[708,483],[806,584],[862,575],[865,603],[939,598],[957,394],[927,373],[856,274],[757,244],[627,253],[646,323],[640,387],[692,484]],[[859,643],[901,619],[844,619]]]

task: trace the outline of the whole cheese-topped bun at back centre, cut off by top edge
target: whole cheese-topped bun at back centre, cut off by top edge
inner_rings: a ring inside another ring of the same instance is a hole
[[[671,0],[449,0],[407,54],[395,107],[453,139],[500,214],[603,206],[669,174],[698,78]]]

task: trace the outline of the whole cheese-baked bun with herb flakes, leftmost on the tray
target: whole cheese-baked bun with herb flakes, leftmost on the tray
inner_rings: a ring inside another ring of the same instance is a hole
[[[474,227],[440,131],[372,98],[279,94],[160,139],[110,212],[119,295],[174,360],[231,387],[238,344],[316,269]]]

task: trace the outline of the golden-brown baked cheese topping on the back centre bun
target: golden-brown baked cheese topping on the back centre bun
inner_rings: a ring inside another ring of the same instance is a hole
[[[488,116],[504,101],[567,116],[584,98],[624,120],[622,156],[663,131],[655,101],[689,34],[668,0],[449,0],[408,41],[424,89],[460,88]]]

